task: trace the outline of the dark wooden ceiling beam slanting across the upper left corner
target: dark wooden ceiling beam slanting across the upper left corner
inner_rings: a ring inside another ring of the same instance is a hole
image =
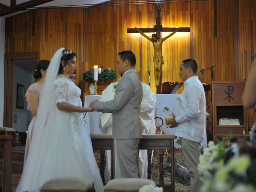
[[[11,7],[4,6],[3,9],[1,8],[0,16],[11,14],[11,13],[14,13],[17,11],[26,10],[27,8],[38,6],[40,4],[44,4],[44,3],[47,3],[50,1],[53,1],[53,0],[30,0],[30,1],[16,5],[16,0],[11,0]],[[3,4],[1,4],[1,5],[3,5]]]

